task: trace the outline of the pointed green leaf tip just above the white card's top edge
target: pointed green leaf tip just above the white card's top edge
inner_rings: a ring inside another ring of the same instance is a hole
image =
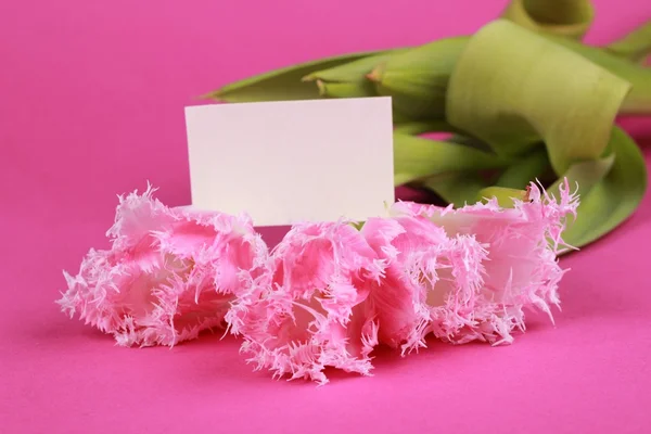
[[[314,82],[302,81],[303,77],[316,71],[347,64],[379,53],[381,51],[352,53],[299,63],[232,82],[204,95],[204,98],[226,102],[318,99],[319,89],[317,86]]]

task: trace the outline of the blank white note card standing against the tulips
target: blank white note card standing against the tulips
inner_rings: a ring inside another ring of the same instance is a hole
[[[395,201],[391,98],[188,106],[186,123],[193,207],[288,226]]]

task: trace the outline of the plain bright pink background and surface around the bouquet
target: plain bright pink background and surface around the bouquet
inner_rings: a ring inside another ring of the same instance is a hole
[[[116,194],[189,201],[183,106],[319,56],[468,34],[506,0],[14,0],[0,3],[0,432],[651,432],[651,197],[562,259],[557,324],[514,345],[432,343],[316,388],[252,372],[239,343],[115,347],[54,299],[104,247]],[[596,0],[590,42],[651,18]],[[622,5],[617,5],[622,4]],[[464,12],[465,11],[465,12]],[[651,162],[651,123],[626,119]],[[269,233],[271,239],[279,233]]]

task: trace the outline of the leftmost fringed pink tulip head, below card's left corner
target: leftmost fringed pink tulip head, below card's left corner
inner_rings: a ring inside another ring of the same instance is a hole
[[[247,218],[169,208],[152,193],[119,197],[111,250],[64,272],[58,302],[123,346],[171,346],[221,326],[267,257]]]

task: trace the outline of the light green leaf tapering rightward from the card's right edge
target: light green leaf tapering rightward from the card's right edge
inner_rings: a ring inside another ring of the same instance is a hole
[[[506,167],[509,159],[458,143],[394,132],[395,184],[457,171]]]

